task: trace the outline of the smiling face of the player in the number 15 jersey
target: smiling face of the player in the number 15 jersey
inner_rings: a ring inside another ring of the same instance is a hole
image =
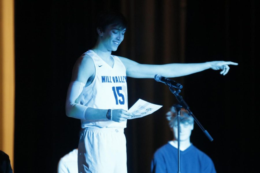
[[[101,31],[101,43],[108,51],[116,51],[119,44],[124,40],[126,29],[108,25],[104,32]]]

